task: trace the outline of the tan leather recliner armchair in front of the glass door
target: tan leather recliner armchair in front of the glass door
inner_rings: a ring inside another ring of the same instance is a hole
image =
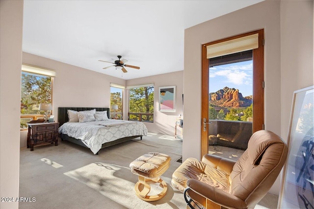
[[[237,162],[206,154],[188,158],[171,184],[207,208],[253,209],[278,177],[288,155],[287,144],[271,131],[252,135]]]

